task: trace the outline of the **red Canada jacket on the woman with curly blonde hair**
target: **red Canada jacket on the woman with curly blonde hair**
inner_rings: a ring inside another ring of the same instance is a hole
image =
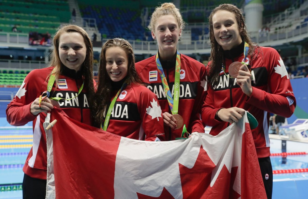
[[[200,119],[201,104],[206,95],[205,65],[186,55],[180,54],[180,99],[178,114],[184,119],[189,133],[203,132],[204,127]],[[161,83],[160,75],[156,66],[155,56],[149,57],[136,63],[136,70],[141,80],[157,96],[161,109],[171,114],[169,104]],[[173,97],[175,66],[169,70],[164,69],[169,88]],[[151,74],[151,78],[150,78]],[[182,128],[174,130],[164,126],[166,140],[175,140],[181,137]]]

